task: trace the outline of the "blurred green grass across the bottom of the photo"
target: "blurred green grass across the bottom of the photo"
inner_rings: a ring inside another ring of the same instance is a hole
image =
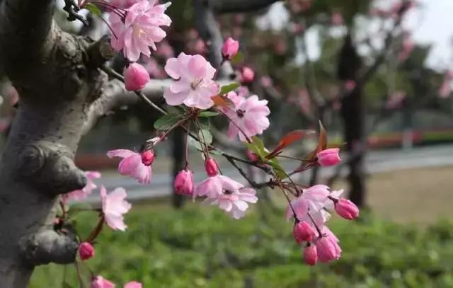
[[[308,267],[282,215],[263,205],[236,221],[199,205],[138,205],[127,231],[105,229],[86,264],[117,287],[130,280],[144,287],[453,287],[452,223],[333,219],[343,257]],[[96,224],[96,214],[76,218],[82,235]],[[64,269],[65,287],[79,287],[74,265],[38,267],[30,287],[64,287]]]

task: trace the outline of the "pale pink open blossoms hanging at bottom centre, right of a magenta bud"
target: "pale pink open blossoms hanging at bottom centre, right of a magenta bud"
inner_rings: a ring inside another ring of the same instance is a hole
[[[195,197],[206,197],[205,203],[218,205],[234,219],[244,217],[248,203],[258,202],[253,188],[245,188],[224,175],[207,178],[198,184],[193,193],[193,199]]]

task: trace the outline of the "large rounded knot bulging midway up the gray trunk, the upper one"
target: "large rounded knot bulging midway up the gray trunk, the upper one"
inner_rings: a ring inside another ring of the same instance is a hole
[[[36,142],[25,146],[19,156],[20,175],[28,183],[52,195],[79,190],[86,185],[84,171],[76,167],[67,146]]]

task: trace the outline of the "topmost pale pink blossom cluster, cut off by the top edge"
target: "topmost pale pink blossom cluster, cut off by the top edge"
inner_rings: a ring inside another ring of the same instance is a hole
[[[166,4],[156,5],[156,0],[142,0],[130,8],[116,8],[109,16],[112,37],[110,45],[121,51],[127,59],[135,62],[140,54],[150,56],[151,47],[156,51],[156,42],[164,40],[166,32],[161,26],[169,26],[171,19],[165,14]]]

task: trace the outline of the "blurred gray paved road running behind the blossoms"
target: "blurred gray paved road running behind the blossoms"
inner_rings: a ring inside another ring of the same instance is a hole
[[[294,162],[286,162],[283,163],[283,166],[294,168],[297,164]],[[367,154],[365,166],[368,173],[379,173],[406,168],[453,166],[453,145],[421,147],[408,151],[398,149],[372,151]],[[243,180],[239,172],[234,168],[224,168],[222,171],[231,178]],[[328,177],[329,175],[332,175],[334,171],[335,168],[322,168],[321,177]],[[341,170],[342,175],[345,175],[347,172],[348,168],[343,168]],[[306,174],[309,175],[309,173]],[[196,182],[199,182],[204,178],[205,173],[202,172],[202,167],[200,167],[198,171],[195,171],[195,180]],[[132,178],[119,174],[106,175],[96,181],[96,183],[105,185],[109,191],[116,187],[125,188],[128,192],[128,199],[135,201],[171,195],[172,182],[173,179],[169,173],[154,173],[151,185],[140,185]],[[245,180],[243,183],[245,183]],[[88,197],[88,202],[98,202],[98,199],[98,193],[93,192],[93,195]]]

